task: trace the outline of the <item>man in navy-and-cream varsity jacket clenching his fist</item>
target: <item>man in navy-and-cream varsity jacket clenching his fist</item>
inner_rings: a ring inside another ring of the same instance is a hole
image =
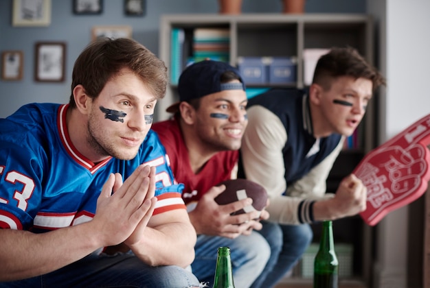
[[[284,242],[261,287],[272,287],[302,256],[313,237],[308,224],[365,209],[366,189],[356,176],[344,178],[335,195],[326,194],[326,178],[381,84],[355,49],[333,48],[318,60],[308,93],[273,89],[249,99],[240,175],[267,190],[269,221],[281,224]]]

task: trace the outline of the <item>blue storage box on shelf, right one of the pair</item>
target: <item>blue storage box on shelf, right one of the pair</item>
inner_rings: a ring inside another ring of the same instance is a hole
[[[269,65],[269,83],[295,84],[297,81],[297,58],[272,57]]]

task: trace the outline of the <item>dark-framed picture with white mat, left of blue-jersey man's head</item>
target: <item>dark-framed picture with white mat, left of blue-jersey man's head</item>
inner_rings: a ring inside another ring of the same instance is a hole
[[[35,45],[34,80],[37,82],[63,82],[65,80],[66,44],[38,42]]]

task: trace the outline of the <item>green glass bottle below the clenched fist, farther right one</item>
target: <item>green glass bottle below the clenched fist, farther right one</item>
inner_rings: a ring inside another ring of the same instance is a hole
[[[315,256],[313,288],[338,287],[339,261],[335,253],[332,221],[323,221],[319,250]]]

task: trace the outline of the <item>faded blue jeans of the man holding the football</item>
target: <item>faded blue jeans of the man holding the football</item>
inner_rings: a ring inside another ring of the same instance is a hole
[[[235,239],[218,236],[199,235],[195,245],[196,258],[191,264],[194,275],[212,287],[214,283],[216,256],[220,246],[231,249],[231,266],[234,285],[238,288],[250,287],[263,271],[271,254],[271,248],[260,233],[240,235]]]

